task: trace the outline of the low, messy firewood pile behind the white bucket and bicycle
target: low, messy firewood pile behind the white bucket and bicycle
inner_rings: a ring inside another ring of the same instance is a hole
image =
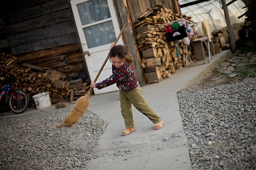
[[[7,77],[15,77],[15,80],[8,81],[8,84],[12,89],[25,90],[30,100],[34,101],[32,96],[35,94],[49,91],[52,104],[73,101],[85,95],[90,88],[82,79],[67,81],[64,73],[27,63],[20,65],[17,61],[11,54],[0,54],[0,85],[4,85]],[[30,107],[34,107],[34,102],[30,103]]]

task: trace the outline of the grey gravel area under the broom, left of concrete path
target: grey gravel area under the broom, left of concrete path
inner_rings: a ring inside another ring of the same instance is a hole
[[[86,169],[106,122],[87,111],[72,128],[57,129],[72,108],[0,119],[1,170]]]

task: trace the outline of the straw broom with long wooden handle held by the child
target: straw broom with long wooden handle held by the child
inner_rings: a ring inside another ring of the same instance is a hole
[[[117,40],[114,42],[114,45],[117,44],[117,41],[119,40],[120,36],[124,32],[124,29],[126,28],[127,24],[124,24],[123,29],[120,31],[119,35],[117,36]],[[102,72],[102,69],[104,68],[106,62],[109,59],[109,55],[105,59],[104,63],[102,64],[101,69],[99,70],[95,80],[93,81],[96,83],[100,73]],[[72,109],[71,113],[68,115],[68,117],[61,123],[57,123],[56,127],[57,128],[62,128],[62,127],[72,127],[75,123],[79,121],[79,119],[83,116],[83,114],[86,112],[88,106],[89,106],[89,98],[90,94],[92,92],[92,87],[88,90],[87,94],[80,97],[78,101],[75,103],[74,109]]]

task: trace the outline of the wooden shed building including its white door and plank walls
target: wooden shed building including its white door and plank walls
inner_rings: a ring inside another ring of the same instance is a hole
[[[19,63],[74,76],[85,71],[93,81],[122,26],[119,43],[134,57],[136,76],[146,84],[136,43],[135,22],[156,5],[180,12],[178,0],[9,0],[0,5],[0,52]],[[107,63],[99,81],[110,76]],[[95,94],[117,90],[111,86]]]

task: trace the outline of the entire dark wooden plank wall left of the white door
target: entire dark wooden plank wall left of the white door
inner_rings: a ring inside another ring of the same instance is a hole
[[[69,0],[8,0],[0,14],[19,62],[67,74],[86,69]]]

